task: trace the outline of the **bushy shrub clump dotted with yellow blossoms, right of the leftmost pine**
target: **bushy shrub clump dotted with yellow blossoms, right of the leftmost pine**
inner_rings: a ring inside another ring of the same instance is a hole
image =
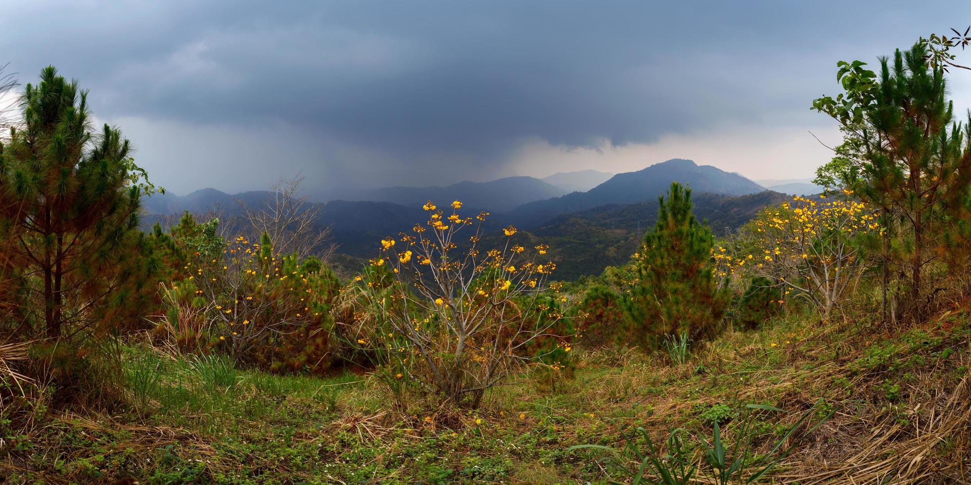
[[[219,352],[276,372],[325,372],[332,362],[331,309],[340,281],[317,258],[280,255],[260,242],[217,235],[218,219],[172,231],[189,254],[167,284],[156,335],[184,351]]]

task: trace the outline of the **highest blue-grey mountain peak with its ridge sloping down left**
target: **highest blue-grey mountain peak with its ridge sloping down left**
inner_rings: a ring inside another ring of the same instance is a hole
[[[687,184],[695,193],[747,195],[765,190],[749,178],[692,160],[673,158],[637,172],[618,174],[586,192],[574,192],[548,200],[523,204],[510,215],[520,224],[533,226],[570,212],[609,204],[637,204],[663,195],[671,182]]]

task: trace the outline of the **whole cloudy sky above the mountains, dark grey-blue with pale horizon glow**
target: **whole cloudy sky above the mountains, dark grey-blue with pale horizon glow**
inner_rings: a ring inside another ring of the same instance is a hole
[[[301,174],[325,199],[669,158],[811,178],[837,61],[969,23],[961,2],[3,0],[0,64],[78,79],[171,192]],[[951,80],[964,113],[971,71]]]

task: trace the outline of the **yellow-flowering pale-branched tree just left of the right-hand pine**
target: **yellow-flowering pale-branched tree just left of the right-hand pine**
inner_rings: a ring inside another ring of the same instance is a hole
[[[860,242],[880,226],[872,210],[849,198],[795,197],[762,210],[746,228],[755,252],[735,267],[778,281],[785,295],[795,291],[827,315],[869,268]]]

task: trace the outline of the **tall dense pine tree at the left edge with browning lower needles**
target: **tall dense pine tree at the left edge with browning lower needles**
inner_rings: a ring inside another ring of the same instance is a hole
[[[92,133],[87,92],[53,67],[25,86],[20,107],[0,155],[0,193],[19,209],[3,223],[17,227],[17,284],[40,303],[27,307],[42,309],[51,339],[131,316],[124,308],[144,303],[157,266],[138,230],[145,172],[117,129]]]

